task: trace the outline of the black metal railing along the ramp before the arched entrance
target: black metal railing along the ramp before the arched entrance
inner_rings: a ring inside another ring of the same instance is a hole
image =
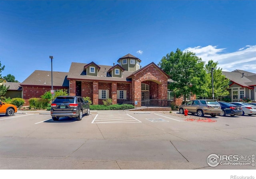
[[[148,108],[148,107],[171,107],[172,100],[167,99],[148,99],[140,101],[126,101],[123,104],[132,104],[136,108]]]

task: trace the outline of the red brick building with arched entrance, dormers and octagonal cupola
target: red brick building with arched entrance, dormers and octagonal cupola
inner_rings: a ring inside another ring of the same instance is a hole
[[[106,98],[112,98],[113,104],[167,100],[170,77],[154,62],[142,68],[140,62],[131,54],[121,57],[113,66],[73,62],[69,72],[53,72],[54,90],[68,89],[70,95],[89,96],[93,104],[103,104]],[[26,102],[40,97],[51,89],[51,72],[36,70],[20,85]]]

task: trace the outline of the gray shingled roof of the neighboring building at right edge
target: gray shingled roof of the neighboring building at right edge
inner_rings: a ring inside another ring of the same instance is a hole
[[[246,87],[253,89],[256,86],[256,74],[243,70],[235,70],[232,72],[222,71],[227,79],[233,83],[240,85],[241,87]]]

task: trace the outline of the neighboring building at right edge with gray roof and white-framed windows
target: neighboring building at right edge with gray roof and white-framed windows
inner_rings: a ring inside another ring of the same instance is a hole
[[[237,102],[241,98],[249,98],[256,101],[256,74],[243,70],[232,72],[222,71],[222,74],[230,80],[229,93],[227,96],[232,102]]]

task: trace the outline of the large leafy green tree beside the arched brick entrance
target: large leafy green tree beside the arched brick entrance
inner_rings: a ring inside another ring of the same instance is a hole
[[[190,93],[198,96],[207,94],[204,61],[195,53],[177,49],[175,53],[172,51],[163,57],[158,66],[173,80],[168,88],[174,91],[176,98],[185,96],[186,102]]]

